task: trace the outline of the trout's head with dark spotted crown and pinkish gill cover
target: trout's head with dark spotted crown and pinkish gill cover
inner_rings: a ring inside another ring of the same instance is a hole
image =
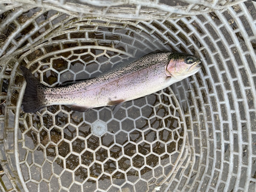
[[[194,55],[171,53],[168,59],[165,74],[176,79],[184,79],[194,75],[201,68],[201,66],[199,66],[201,60]]]

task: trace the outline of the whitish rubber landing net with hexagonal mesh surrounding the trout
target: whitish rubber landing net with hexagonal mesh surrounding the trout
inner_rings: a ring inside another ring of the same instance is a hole
[[[0,19],[2,191],[256,190],[255,2],[2,1]],[[20,65],[56,86],[163,49],[202,70],[114,115],[21,110]]]

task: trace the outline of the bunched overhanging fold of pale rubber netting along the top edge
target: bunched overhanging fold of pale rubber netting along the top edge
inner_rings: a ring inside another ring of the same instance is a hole
[[[20,6],[45,7],[79,17],[105,17],[123,20],[177,19],[221,10],[245,0],[17,0],[2,1],[2,9]],[[7,4],[7,6],[6,6]]]

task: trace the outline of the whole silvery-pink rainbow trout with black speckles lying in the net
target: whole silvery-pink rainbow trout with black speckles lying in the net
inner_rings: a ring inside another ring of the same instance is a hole
[[[71,105],[73,111],[120,106],[126,101],[160,91],[199,71],[201,60],[179,52],[155,52],[122,63],[99,76],[64,86],[48,87],[26,67],[20,66],[26,80],[22,106],[35,113],[51,105]]]

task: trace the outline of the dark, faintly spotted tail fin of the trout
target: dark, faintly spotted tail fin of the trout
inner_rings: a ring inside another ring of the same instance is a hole
[[[20,66],[20,70],[27,82],[22,100],[23,111],[25,113],[34,113],[46,107],[44,98],[44,89],[46,86],[41,84],[27,68]]]

